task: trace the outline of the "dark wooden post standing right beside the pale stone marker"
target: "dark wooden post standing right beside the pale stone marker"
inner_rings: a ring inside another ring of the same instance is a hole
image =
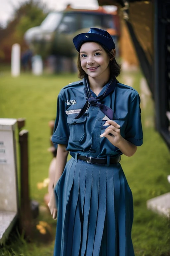
[[[31,238],[32,214],[29,195],[29,162],[28,162],[28,131],[19,132],[20,143],[20,175],[21,175],[21,204],[20,228],[27,238]]]

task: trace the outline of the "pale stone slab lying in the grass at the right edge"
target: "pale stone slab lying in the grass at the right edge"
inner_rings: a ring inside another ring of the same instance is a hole
[[[149,199],[146,205],[148,209],[170,218],[170,192]]]

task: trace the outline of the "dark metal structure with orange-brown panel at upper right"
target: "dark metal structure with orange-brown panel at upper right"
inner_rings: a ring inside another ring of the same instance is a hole
[[[126,21],[155,102],[156,129],[170,149],[170,0],[98,0],[117,5]]]

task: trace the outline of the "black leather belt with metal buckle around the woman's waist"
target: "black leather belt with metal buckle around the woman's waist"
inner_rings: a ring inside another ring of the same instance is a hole
[[[72,157],[74,157],[76,159],[76,154],[70,152],[70,155]],[[109,157],[109,159],[107,157],[105,158],[96,158],[96,157],[91,157],[91,156],[83,156],[83,155],[79,155],[77,154],[77,160],[82,160],[85,161],[87,163],[91,163],[91,164],[117,164],[121,161],[121,156],[116,156],[116,157]]]

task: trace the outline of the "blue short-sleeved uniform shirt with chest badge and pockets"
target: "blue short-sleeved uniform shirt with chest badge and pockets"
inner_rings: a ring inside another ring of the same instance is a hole
[[[105,85],[100,92],[106,90]],[[108,117],[97,107],[90,105],[79,119],[75,117],[86,102],[83,80],[65,86],[58,95],[57,116],[55,120],[52,142],[65,144],[70,152],[82,155],[103,157],[121,155],[119,148],[100,135],[106,129],[103,127]],[[98,95],[98,96],[99,96]],[[96,97],[92,92],[92,96]],[[140,97],[132,87],[117,83],[113,93],[102,101],[114,111],[113,120],[121,128],[121,135],[136,146],[142,144],[143,133],[140,117]]]

